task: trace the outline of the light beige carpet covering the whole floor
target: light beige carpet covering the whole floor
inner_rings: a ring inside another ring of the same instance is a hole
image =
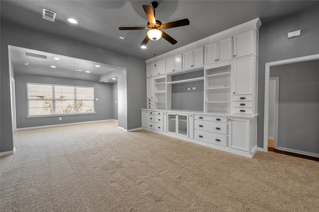
[[[1,212],[318,212],[319,162],[252,158],[117,122],[18,131]]]

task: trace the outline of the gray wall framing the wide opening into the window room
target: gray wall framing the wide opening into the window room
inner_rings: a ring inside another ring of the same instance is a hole
[[[124,93],[123,97],[128,103],[121,110],[122,113],[119,113],[119,116],[123,116],[123,114],[127,115],[124,115],[121,119],[119,117],[119,122],[120,120],[122,123],[124,122],[122,126],[128,130],[141,127],[140,109],[145,107],[146,99],[145,61],[2,21],[0,29],[1,152],[13,150],[8,45],[126,68],[125,73],[122,74],[125,77],[122,81],[127,86],[125,89],[128,92]],[[124,85],[122,87],[124,88]]]

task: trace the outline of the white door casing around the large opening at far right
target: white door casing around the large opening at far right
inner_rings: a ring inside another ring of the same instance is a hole
[[[292,58],[282,61],[275,61],[265,64],[265,104],[264,104],[264,152],[268,151],[268,111],[269,111],[269,73],[273,66],[281,66],[292,63],[318,60],[319,54],[299,58]]]

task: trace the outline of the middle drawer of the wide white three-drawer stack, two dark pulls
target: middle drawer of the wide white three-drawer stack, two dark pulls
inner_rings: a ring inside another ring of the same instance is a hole
[[[227,135],[227,124],[195,120],[195,130]]]

